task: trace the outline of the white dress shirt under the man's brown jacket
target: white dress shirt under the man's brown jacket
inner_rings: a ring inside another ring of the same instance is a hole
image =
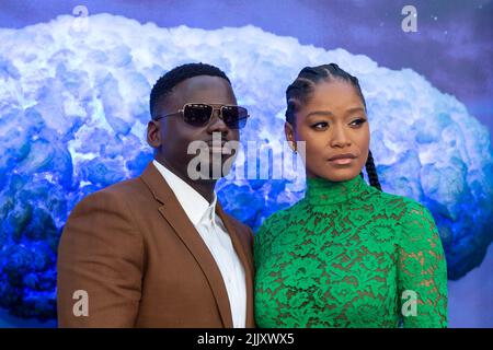
[[[158,161],[152,162],[170,185],[186,215],[209,248],[221,272],[228,292],[229,305],[234,328],[244,328],[246,318],[246,282],[243,265],[231,243],[231,238],[216,215],[217,196],[209,203],[187,183],[177,177]]]

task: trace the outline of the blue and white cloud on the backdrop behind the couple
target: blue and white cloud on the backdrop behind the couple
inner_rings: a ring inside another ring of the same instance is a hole
[[[449,278],[479,266],[493,240],[490,135],[462,103],[410,70],[363,55],[300,45],[254,26],[160,28],[110,14],[59,16],[0,30],[0,306],[55,317],[56,248],[87,194],[137,176],[148,94],[190,61],[221,67],[252,115],[242,140],[283,141],[284,91],[300,68],[336,62],[362,82],[383,190],[431,209]],[[288,186],[293,185],[293,186]],[[252,228],[302,196],[302,183],[218,183],[227,211]]]

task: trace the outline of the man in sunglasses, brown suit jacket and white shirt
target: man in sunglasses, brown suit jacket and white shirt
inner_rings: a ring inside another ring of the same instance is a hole
[[[147,130],[154,161],[85,197],[64,229],[59,326],[254,326],[252,232],[222,211],[217,178],[204,176],[231,156],[226,142],[238,141],[248,117],[236,105],[213,66],[184,65],[158,80]],[[196,170],[192,142],[211,145]]]

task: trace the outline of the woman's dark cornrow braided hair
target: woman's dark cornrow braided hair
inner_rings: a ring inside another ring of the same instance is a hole
[[[335,63],[305,67],[299,72],[293,84],[290,84],[286,90],[286,121],[290,125],[295,125],[296,113],[305,103],[307,103],[316,85],[321,81],[332,81],[335,79],[351,83],[355,88],[358,96],[362,98],[363,105],[366,109],[365,97],[363,95],[362,88],[359,86],[359,81],[356,77],[353,77]],[[365,167],[370,186],[381,190],[371,151],[368,151],[368,159]],[[364,177],[363,172],[359,175]]]

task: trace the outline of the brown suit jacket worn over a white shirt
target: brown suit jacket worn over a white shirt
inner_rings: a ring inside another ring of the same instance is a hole
[[[216,213],[243,264],[246,327],[254,327],[252,231],[219,203]],[[57,268],[60,327],[232,327],[219,268],[152,163],[77,205]],[[78,290],[87,292],[87,316]]]

